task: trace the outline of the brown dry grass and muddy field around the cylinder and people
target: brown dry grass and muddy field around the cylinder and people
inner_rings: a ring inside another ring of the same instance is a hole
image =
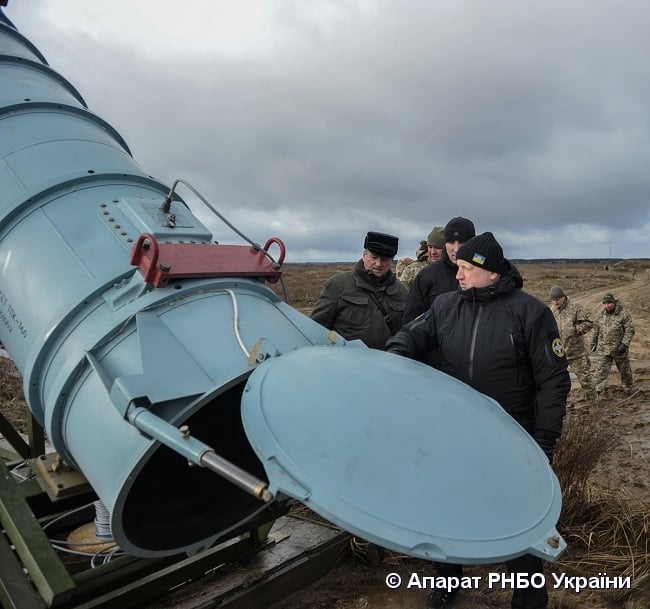
[[[325,280],[349,270],[352,263],[287,264],[283,282],[288,302],[309,314]],[[597,413],[587,409],[580,389],[571,390],[565,435],[554,467],[564,492],[558,529],[569,544],[554,573],[586,577],[607,573],[630,575],[632,589],[623,591],[553,590],[551,609],[646,609],[650,607],[650,260],[624,261],[613,267],[594,263],[519,263],[524,289],[543,301],[560,285],[595,313],[605,292],[613,292],[631,312],[636,336],[630,348],[635,392],[624,394],[618,373]],[[274,287],[282,291],[280,285]],[[13,364],[0,358],[0,409],[25,431],[22,380]],[[295,593],[273,609],[420,609],[427,592],[387,589],[392,571],[408,576],[432,574],[431,567],[384,553],[370,560],[363,540],[351,542],[354,559],[334,569],[310,588]],[[472,567],[467,574],[495,571],[500,565]],[[481,571],[483,570],[483,571]],[[457,609],[506,609],[509,593],[464,590]],[[162,599],[161,599],[162,601]],[[148,607],[190,607],[183,602]]]

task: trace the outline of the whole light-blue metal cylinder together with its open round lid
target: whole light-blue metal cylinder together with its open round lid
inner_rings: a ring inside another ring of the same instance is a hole
[[[546,544],[557,480],[491,401],[346,343],[263,277],[146,281],[130,264],[144,233],[219,246],[178,197],[168,221],[169,187],[0,17],[0,340],[124,550],[196,552],[263,509],[209,471],[214,448],[278,498],[415,556],[561,551]]]

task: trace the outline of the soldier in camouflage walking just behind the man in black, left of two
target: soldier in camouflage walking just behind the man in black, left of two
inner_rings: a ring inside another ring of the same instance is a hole
[[[596,387],[591,378],[591,361],[585,346],[585,335],[594,326],[589,313],[573,302],[560,286],[551,288],[551,311],[564,342],[564,350],[569,368],[576,375],[590,407],[596,406]]]

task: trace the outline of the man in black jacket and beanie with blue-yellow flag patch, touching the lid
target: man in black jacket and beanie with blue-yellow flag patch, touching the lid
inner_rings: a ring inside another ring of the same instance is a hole
[[[552,461],[571,388],[553,314],[521,290],[521,276],[492,233],[467,241],[457,265],[458,289],[435,297],[429,311],[388,340],[386,350],[422,360],[438,347],[440,369],[499,402]],[[528,576],[542,572],[542,560],[531,555],[506,565]],[[461,565],[437,568],[447,577],[462,574]],[[456,592],[434,590],[427,609],[450,607]],[[513,609],[547,606],[546,587],[513,591]]]

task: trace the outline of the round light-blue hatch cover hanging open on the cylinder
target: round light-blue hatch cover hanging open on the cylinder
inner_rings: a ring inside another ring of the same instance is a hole
[[[494,400],[382,351],[305,347],[260,365],[242,398],[270,490],[386,548],[479,563],[565,547],[535,441]]]

